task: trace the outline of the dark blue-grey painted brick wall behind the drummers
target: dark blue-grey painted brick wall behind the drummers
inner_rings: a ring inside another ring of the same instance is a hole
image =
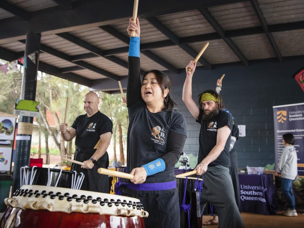
[[[246,125],[246,137],[240,137],[235,145],[239,167],[265,166],[274,163],[274,105],[285,105],[304,101],[304,93],[292,78],[304,57],[285,61],[256,62],[249,67],[240,64],[218,65],[212,71],[197,69],[192,83],[192,95],[206,89],[215,89],[216,80],[226,74],[220,95],[224,105],[234,116],[236,124]],[[188,129],[184,152],[198,155],[200,125],[195,122],[182,98],[185,73],[170,75],[172,96],[178,111],[185,115]]]

